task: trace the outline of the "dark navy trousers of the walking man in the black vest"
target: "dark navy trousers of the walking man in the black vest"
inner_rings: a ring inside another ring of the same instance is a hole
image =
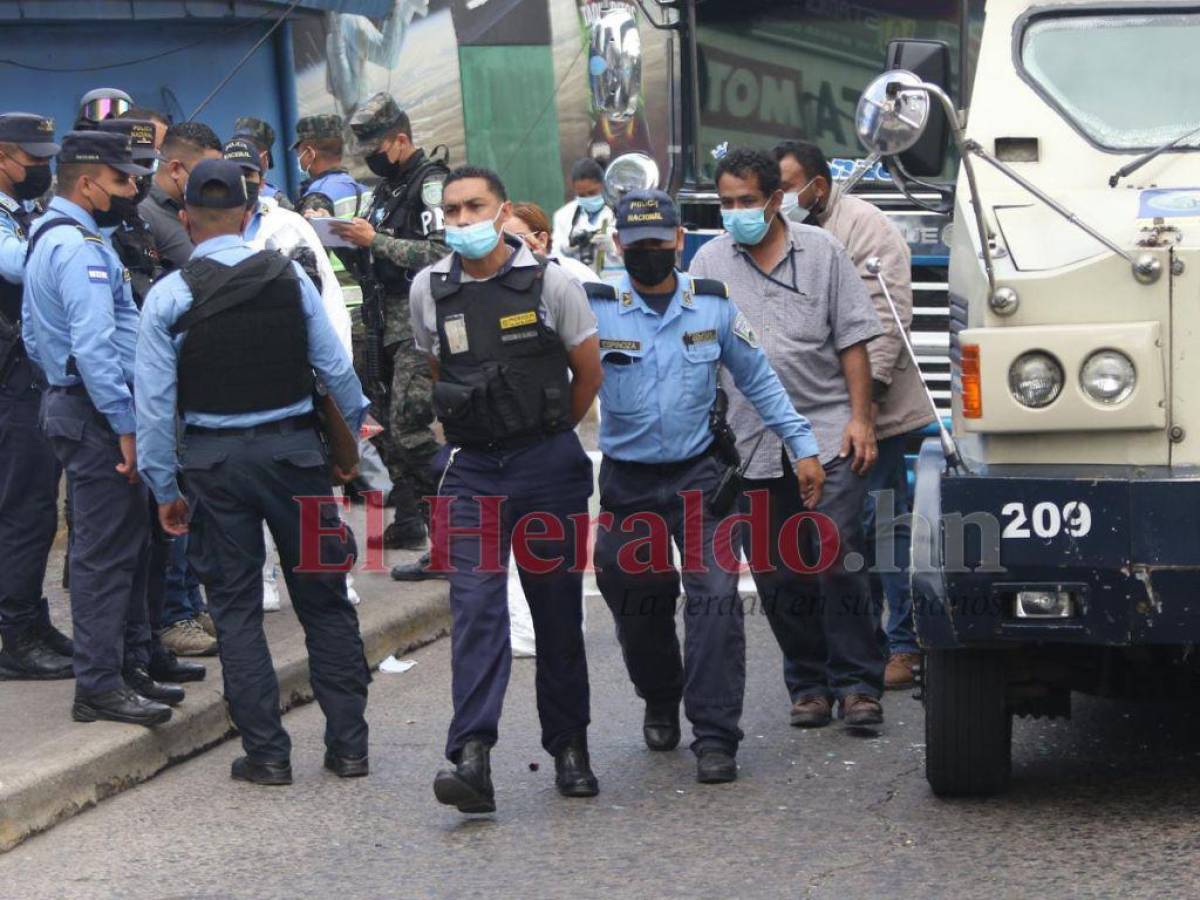
[[[584,566],[576,565],[576,541],[583,546],[587,542],[592,461],[575,432],[569,431],[511,451],[446,446],[434,466],[440,478],[438,496],[450,500],[448,520],[454,529],[444,534],[444,523],[437,514],[432,516],[434,557],[439,546],[448,551],[454,616],[454,719],[446,757],[456,762],[468,739],[494,744],[499,737],[500,708],[512,667],[508,558],[514,527],[532,512],[546,514],[563,526],[560,538],[554,536],[557,532],[539,538],[542,526],[530,526],[527,539],[518,542],[538,559],[562,557],[559,565],[545,572],[530,571],[540,569],[540,564],[526,566],[529,559],[523,558],[524,552],[516,559],[538,642],[535,686],[541,745],[557,754],[590,721],[583,649]],[[488,514],[493,508],[476,499],[480,497],[504,498],[494,508],[494,520]],[[482,538],[478,534],[481,528]],[[476,534],[463,534],[463,529]],[[434,558],[434,565],[437,562]]]

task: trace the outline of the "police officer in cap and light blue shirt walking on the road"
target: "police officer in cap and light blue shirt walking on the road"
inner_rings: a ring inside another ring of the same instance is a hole
[[[784,440],[811,503],[821,485],[817,444],[725,286],[676,270],[683,229],[671,198],[661,191],[626,194],[616,227],[628,274],[614,286],[586,286],[605,376],[600,508],[602,516],[612,515],[596,539],[596,581],[646,701],[647,746],[672,750],[679,743],[682,698],[695,734],[697,780],[732,781],[742,740],[745,635],[737,542],[726,539],[724,550],[714,542],[736,494],[722,488],[730,466],[718,458],[710,422],[718,367],[728,370]],[[686,505],[685,491],[703,492],[703,499],[694,496]],[[671,538],[683,547],[688,599],[682,658],[674,629],[680,574]]]

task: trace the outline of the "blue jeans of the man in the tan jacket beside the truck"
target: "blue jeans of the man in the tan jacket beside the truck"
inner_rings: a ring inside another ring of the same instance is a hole
[[[919,652],[912,619],[912,592],[908,589],[912,529],[907,515],[912,503],[908,498],[908,469],[904,454],[907,442],[908,434],[895,434],[881,440],[880,458],[866,476],[869,493],[864,521],[868,559],[872,572],[871,592],[878,596],[882,589],[887,599],[886,630],[890,653]],[[890,498],[880,496],[882,491],[890,492]],[[888,515],[889,505],[890,515]],[[877,506],[880,522],[876,522]],[[892,544],[890,553],[887,552],[887,541]],[[876,571],[876,566],[883,571]]]

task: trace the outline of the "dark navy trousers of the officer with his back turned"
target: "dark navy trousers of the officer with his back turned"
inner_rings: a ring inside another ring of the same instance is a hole
[[[280,716],[280,685],[263,634],[263,522],[280,551],[292,606],[304,628],[312,690],[325,714],[325,745],[340,756],[367,754],[367,668],[359,618],[337,566],[356,552],[341,526],[329,463],[311,427],[266,427],[240,434],[184,436],[184,491],[192,510],[187,562],[204,584],[221,642],[229,714],[246,755],[256,762],[289,758],[292,740]],[[302,506],[296,498],[330,498]],[[319,510],[301,520],[301,510]],[[301,563],[301,541],[316,559]],[[308,565],[313,564],[313,565]]]

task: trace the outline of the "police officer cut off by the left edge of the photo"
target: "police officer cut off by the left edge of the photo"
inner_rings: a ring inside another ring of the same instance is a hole
[[[30,204],[50,187],[54,122],[0,115],[0,679],[71,678],[70,638],[42,596],[59,466],[37,426],[41,391],[20,340]]]

